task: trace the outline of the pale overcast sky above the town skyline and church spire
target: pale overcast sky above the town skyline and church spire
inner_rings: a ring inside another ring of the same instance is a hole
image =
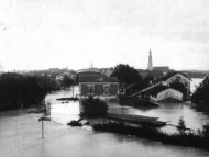
[[[209,70],[209,0],[0,0],[6,70],[154,66]]]

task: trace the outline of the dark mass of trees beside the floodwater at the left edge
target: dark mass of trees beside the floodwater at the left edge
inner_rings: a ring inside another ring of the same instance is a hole
[[[26,108],[44,99],[55,82],[46,77],[7,72],[0,76],[0,110]]]

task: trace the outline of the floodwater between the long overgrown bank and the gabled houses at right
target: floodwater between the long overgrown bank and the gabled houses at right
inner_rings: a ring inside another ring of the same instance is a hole
[[[111,105],[111,104],[110,104]],[[160,108],[151,110],[141,110],[140,108],[114,108],[111,112],[123,114],[135,114],[144,116],[160,117],[158,120],[169,122],[169,124],[177,125],[180,116],[186,121],[188,128],[197,131],[202,128],[202,125],[208,123],[209,116],[202,113],[197,113],[189,105],[185,103],[160,103]],[[165,126],[163,130],[167,132],[176,132],[175,127]]]

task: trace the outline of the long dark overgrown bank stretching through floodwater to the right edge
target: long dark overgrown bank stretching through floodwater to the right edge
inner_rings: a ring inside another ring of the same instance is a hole
[[[209,136],[205,135],[204,132],[165,133],[158,128],[147,126],[140,127],[118,122],[95,124],[92,127],[96,131],[106,131],[125,135],[134,135],[136,137],[143,137],[151,141],[162,142],[163,144],[193,146],[209,149]]]

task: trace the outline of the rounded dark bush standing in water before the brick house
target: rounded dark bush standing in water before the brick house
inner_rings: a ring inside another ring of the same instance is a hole
[[[103,116],[108,112],[108,105],[103,100],[99,98],[89,97],[82,101],[82,112],[81,115],[89,117]]]

